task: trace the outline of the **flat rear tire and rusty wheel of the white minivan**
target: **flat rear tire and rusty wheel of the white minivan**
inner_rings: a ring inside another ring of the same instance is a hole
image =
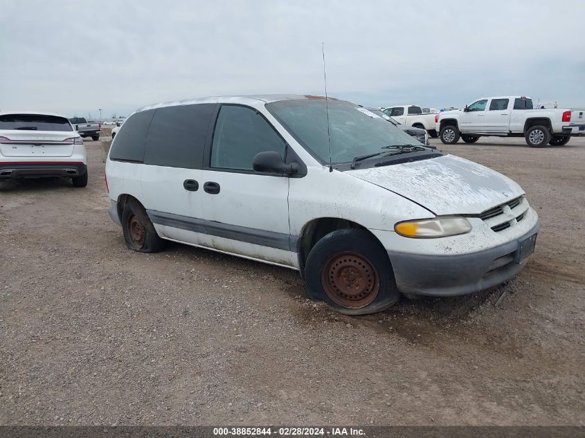
[[[165,241],[156,234],[146,210],[136,199],[130,199],[124,206],[122,230],[126,246],[133,251],[158,253],[165,247]]]

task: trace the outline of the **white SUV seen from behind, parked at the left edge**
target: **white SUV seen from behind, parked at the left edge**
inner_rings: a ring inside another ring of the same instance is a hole
[[[0,181],[63,176],[87,185],[87,153],[71,122],[58,114],[0,113]]]

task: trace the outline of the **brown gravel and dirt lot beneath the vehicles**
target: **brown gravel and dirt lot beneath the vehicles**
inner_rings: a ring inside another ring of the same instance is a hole
[[[0,183],[1,424],[585,424],[585,139],[440,145],[523,186],[537,253],[505,286],[362,318],[285,268],[127,250],[86,145],[85,189]]]

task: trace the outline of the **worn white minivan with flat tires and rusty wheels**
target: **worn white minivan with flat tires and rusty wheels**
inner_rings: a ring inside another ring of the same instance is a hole
[[[145,107],[116,135],[106,177],[132,250],[166,239],[294,268],[350,315],[505,282],[539,230],[511,179],[313,95]]]

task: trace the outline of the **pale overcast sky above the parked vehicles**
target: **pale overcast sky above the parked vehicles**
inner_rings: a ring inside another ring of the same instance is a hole
[[[585,107],[585,1],[0,0],[0,109],[127,115],[208,95]]]

